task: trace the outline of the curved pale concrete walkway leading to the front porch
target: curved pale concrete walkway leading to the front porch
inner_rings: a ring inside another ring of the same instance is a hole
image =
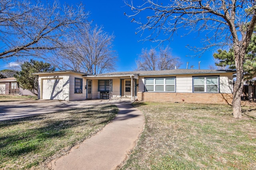
[[[113,170],[126,159],[144,127],[144,116],[130,102],[117,102],[119,113],[102,131],[52,160],[52,170]]]

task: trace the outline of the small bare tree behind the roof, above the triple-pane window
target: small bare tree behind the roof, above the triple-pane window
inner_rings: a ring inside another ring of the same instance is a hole
[[[137,70],[151,71],[151,70],[171,70],[178,68],[180,63],[178,57],[173,57],[170,53],[170,48],[159,48],[159,52],[152,48],[149,51],[142,49],[139,59],[136,60]]]

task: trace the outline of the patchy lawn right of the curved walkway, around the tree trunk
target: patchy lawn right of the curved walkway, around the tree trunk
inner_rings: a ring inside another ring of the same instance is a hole
[[[136,102],[146,124],[120,169],[256,169],[256,107],[232,117],[229,105]]]

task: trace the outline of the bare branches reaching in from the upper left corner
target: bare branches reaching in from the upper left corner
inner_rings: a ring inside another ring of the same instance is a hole
[[[61,6],[58,0],[0,1],[0,59],[41,56],[62,47],[65,35],[87,24],[82,4]]]

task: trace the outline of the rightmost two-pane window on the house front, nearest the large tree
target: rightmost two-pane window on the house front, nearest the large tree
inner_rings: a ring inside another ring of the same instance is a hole
[[[193,77],[193,92],[219,92],[219,77]]]

